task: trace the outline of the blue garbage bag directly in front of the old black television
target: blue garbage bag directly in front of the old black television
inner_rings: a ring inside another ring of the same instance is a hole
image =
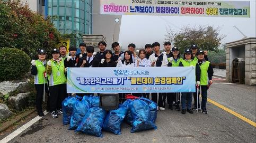
[[[128,108],[120,106],[116,110],[109,111],[107,117],[104,120],[102,128],[105,131],[113,132],[116,135],[121,134],[121,123],[125,119]]]

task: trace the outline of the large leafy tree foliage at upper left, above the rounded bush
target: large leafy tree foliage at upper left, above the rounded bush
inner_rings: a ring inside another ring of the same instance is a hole
[[[35,58],[38,49],[47,53],[56,47],[60,34],[42,15],[22,5],[19,0],[0,1],[0,48],[15,47]]]

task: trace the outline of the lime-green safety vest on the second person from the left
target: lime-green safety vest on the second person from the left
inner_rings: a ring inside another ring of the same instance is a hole
[[[64,74],[64,62],[63,60],[56,62],[54,60],[51,61],[51,74],[48,74],[48,80],[49,80],[49,85],[58,85],[58,84],[63,84],[66,83],[67,79]]]

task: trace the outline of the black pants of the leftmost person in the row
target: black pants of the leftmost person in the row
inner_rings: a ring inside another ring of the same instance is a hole
[[[34,84],[36,87],[37,97],[36,97],[36,107],[37,112],[42,112],[42,100],[43,100],[43,92],[47,94],[47,110],[50,110],[50,96],[47,84],[45,84],[45,90],[43,90],[43,84]]]

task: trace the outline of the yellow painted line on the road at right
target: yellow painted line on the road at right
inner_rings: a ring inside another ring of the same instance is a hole
[[[200,96],[200,97],[201,97],[201,96]],[[226,108],[225,106],[223,106],[222,104],[219,104],[219,103],[217,103],[217,102],[215,102],[215,101],[213,101],[213,100],[211,100],[211,99],[209,99],[209,98],[207,98],[207,101],[209,101],[210,103],[214,104],[215,106],[217,106],[217,107],[219,107],[219,108],[221,108],[221,109],[223,109],[223,110],[225,110],[225,111],[231,113],[232,115],[236,116],[237,118],[240,118],[240,119],[242,119],[242,120],[245,121],[245,122],[248,122],[250,125],[256,127],[256,122],[254,122],[254,121],[252,121],[252,120],[250,120],[250,119],[247,119],[247,118],[243,117],[243,116],[240,115],[239,113],[237,113],[237,112],[235,112],[235,111],[233,111],[233,110],[231,110],[231,109],[228,109],[228,108]]]

